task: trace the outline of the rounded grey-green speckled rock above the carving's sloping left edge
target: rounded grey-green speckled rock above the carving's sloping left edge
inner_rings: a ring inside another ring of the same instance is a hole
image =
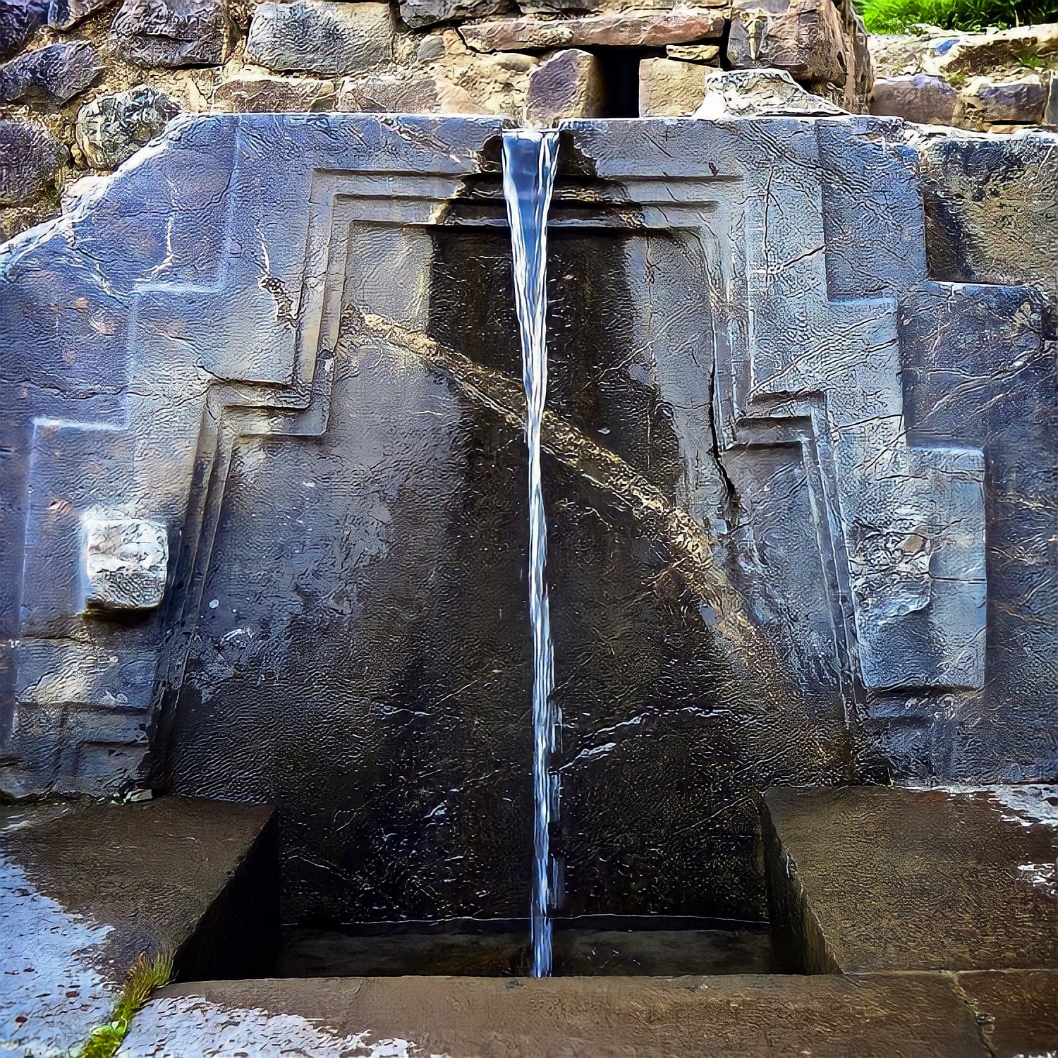
[[[93,169],[113,169],[154,139],[180,107],[164,92],[138,85],[80,108],[74,142]]]

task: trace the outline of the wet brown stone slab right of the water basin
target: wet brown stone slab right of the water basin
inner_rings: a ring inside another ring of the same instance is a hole
[[[808,972],[1058,966],[1053,786],[764,795],[772,922]]]

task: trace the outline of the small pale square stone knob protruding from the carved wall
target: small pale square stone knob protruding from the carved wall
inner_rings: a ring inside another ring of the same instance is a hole
[[[165,526],[141,518],[85,519],[85,602],[104,609],[153,609],[169,565]]]

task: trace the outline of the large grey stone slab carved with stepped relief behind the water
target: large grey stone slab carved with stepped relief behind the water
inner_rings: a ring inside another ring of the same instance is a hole
[[[277,800],[293,914],[519,913],[503,127],[182,117],[0,251],[8,788],[149,767]],[[563,127],[567,906],[748,917],[753,789],[1053,766],[1048,304],[1018,261],[973,263],[980,197],[952,181],[977,141],[847,115]],[[981,149],[1027,200],[1054,140]],[[510,808],[463,829],[482,804]],[[649,908],[622,880],[644,871]]]

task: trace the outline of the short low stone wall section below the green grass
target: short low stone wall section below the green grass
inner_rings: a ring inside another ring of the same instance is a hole
[[[871,112],[1009,133],[1058,126],[1058,24],[870,37]]]

